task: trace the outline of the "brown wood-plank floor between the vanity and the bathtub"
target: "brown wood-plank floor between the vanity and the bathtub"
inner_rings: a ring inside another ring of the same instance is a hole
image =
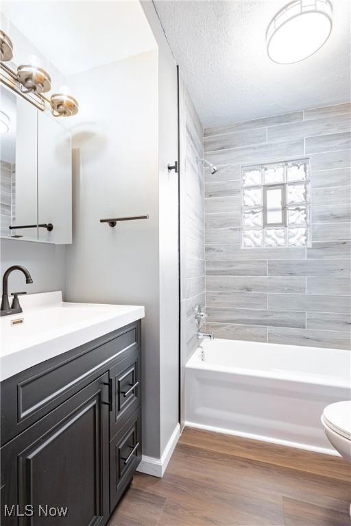
[[[137,473],[108,526],[350,526],[350,465],[186,428],[162,479]]]

